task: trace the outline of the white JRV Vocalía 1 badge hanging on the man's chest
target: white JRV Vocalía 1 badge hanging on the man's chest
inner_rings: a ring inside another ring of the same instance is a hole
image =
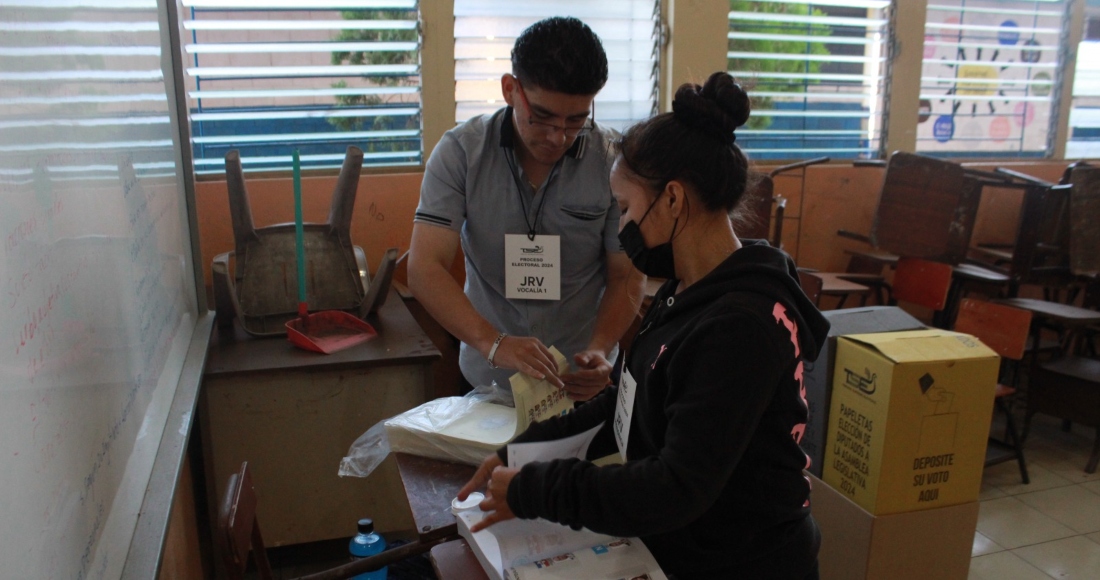
[[[561,299],[561,238],[508,233],[504,237],[505,297]]]

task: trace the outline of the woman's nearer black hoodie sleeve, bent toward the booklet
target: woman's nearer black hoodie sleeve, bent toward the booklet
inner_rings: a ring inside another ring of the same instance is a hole
[[[650,435],[663,435],[657,455],[606,467],[575,459],[529,463],[508,488],[513,512],[623,536],[700,518],[725,489],[783,361],[793,358],[790,342],[780,343],[767,324],[748,313],[718,316],[670,347],[668,428]]]

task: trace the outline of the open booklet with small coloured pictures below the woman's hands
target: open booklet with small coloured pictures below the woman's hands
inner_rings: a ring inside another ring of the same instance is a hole
[[[476,534],[470,528],[485,513],[458,514],[466,539],[492,580],[668,580],[638,538],[573,529],[546,519],[507,519]]]

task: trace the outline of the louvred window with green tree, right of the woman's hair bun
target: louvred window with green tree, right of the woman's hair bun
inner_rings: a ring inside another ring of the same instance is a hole
[[[752,98],[737,144],[757,160],[875,157],[888,0],[730,0],[729,74]]]

